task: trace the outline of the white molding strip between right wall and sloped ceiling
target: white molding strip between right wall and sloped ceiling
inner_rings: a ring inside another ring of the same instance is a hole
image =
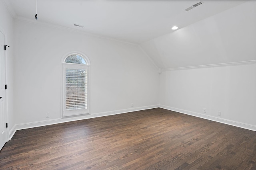
[[[256,64],[256,60],[239,61],[239,62],[232,62],[232,63],[208,64],[208,65],[201,65],[201,66],[166,68],[166,69],[161,69],[161,70],[162,71],[172,71],[172,70],[186,70],[186,69],[194,69],[194,68],[211,68],[211,67],[221,67],[221,66],[236,66],[236,65],[246,65],[246,64]]]

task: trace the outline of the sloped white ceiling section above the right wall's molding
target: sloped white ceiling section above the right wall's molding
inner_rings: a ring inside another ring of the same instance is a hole
[[[161,69],[256,60],[256,1],[141,44]]]

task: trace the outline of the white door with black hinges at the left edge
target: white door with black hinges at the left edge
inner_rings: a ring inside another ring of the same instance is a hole
[[[0,32],[0,150],[7,141],[4,45],[4,35]]]

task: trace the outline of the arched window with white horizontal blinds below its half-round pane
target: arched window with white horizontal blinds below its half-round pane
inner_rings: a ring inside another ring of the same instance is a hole
[[[89,113],[89,61],[80,54],[68,55],[63,63],[62,116]]]

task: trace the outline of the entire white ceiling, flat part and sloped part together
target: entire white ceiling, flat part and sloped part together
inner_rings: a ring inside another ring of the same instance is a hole
[[[254,0],[37,0],[38,20],[36,0],[4,2],[18,20],[138,44],[162,69],[256,57]]]

